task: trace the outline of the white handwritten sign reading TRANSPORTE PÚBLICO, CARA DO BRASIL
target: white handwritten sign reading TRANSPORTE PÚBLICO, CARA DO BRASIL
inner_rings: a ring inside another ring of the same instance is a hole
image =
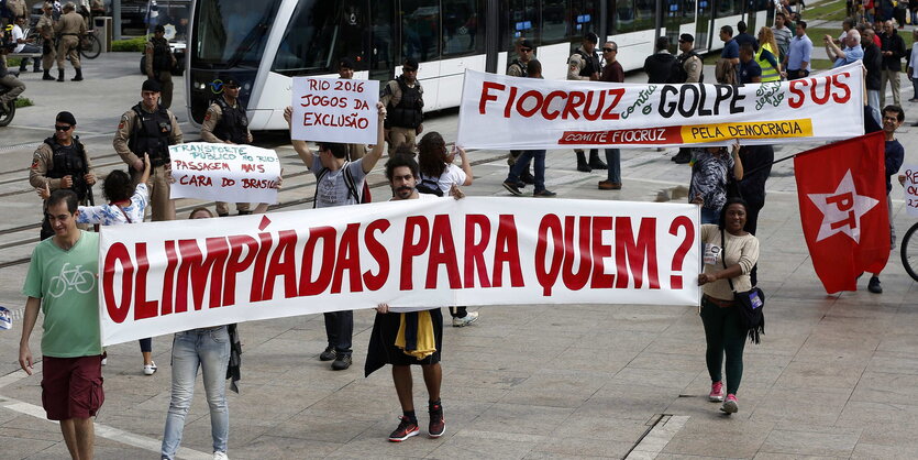
[[[173,199],[277,202],[280,161],[273,150],[191,142],[169,146],[169,156]]]

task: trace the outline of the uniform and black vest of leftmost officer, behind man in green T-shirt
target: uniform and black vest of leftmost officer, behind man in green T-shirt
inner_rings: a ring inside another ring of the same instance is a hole
[[[70,123],[76,124],[76,123]],[[32,155],[32,166],[29,168],[29,184],[34,188],[45,188],[54,191],[59,188],[65,176],[70,176],[70,190],[77,194],[80,205],[89,204],[92,186],[86,182],[87,174],[95,175],[86,146],[74,136],[70,145],[60,145],[55,136],[44,140]],[[44,215],[44,212],[43,212]],[[84,228],[84,226],[80,226]],[[47,216],[42,219],[41,239],[54,234]]]

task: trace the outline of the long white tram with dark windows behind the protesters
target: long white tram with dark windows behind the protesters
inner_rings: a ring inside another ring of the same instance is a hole
[[[457,107],[465,69],[502,73],[512,43],[535,45],[545,78],[563,79],[566,61],[587,32],[619,46],[626,70],[641,68],[655,39],[676,52],[679,34],[699,52],[723,47],[717,32],[770,22],[767,0],[195,0],[185,87],[200,124],[222,79],[242,85],[250,128],[286,129],[292,77],[336,76],[350,57],[354,78],[386,81],[399,63],[420,63],[424,110]]]

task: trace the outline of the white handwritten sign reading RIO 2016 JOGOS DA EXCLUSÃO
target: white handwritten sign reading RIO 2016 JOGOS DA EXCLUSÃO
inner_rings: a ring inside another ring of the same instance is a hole
[[[299,141],[376,143],[379,81],[294,78],[292,138]]]

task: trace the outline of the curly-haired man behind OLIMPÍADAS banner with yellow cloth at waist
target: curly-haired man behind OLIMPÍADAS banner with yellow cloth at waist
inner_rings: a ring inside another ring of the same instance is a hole
[[[418,194],[419,167],[410,156],[396,155],[389,158],[386,163],[386,178],[392,188],[392,201],[430,197]],[[463,197],[455,185],[451,194],[456,199]],[[364,373],[369,376],[386,364],[392,365],[392,383],[402,416],[399,417],[398,427],[389,435],[390,441],[400,442],[421,431],[414,414],[411,365],[421,366],[424,386],[428,388],[428,436],[439,438],[446,430],[440,401],[440,386],[443,382],[443,370],[440,366],[442,350],[443,315],[439,307],[410,313],[395,313],[388,304],[376,307]]]

